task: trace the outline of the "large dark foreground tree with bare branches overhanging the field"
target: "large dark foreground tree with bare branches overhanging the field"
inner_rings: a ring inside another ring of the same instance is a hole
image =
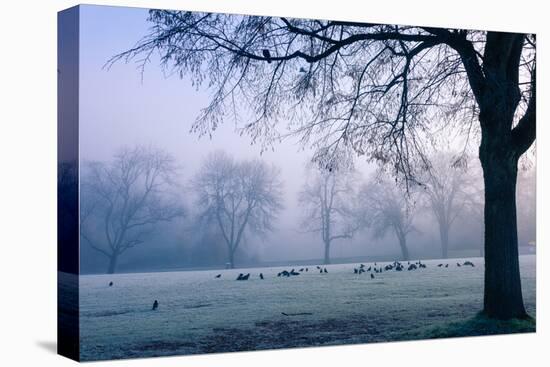
[[[481,131],[484,312],[526,316],[515,189],[518,159],[536,135],[534,35],[163,10],[149,20],[151,32],[111,63],[145,66],[158,51],[166,68],[207,81],[213,97],[193,127],[201,134],[228,112],[242,121],[242,111],[243,132],[270,144],[288,121],[318,160],[346,147],[409,182],[442,116]]]

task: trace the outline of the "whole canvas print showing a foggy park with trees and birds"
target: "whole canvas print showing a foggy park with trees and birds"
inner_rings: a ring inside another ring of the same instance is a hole
[[[60,15],[80,26],[79,166],[63,141],[58,164],[77,359],[535,331],[534,34]]]

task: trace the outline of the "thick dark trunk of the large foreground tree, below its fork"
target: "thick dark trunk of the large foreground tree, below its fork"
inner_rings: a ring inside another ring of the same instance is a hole
[[[483,311],[492,318],[524,318],[516,218],[517,157],[503,147],[505,142],[485,140],[480,147],[485,183]]]

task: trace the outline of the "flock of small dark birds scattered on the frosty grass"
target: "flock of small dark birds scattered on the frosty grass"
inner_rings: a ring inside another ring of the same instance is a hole
[[[461,267],[461,266],[471,266],[471,267],[474,267],[474,263],[471,262],[471,261],[464,261],[464,263],[460,264],[460,263],[456,263],[456,266],[457,267]],[[440,263],[437,265],[438,268],[441,268],[441,267],[445,267],[445,268],[448,268],[449,267],[449,264],[443,264],[443,263]],[[328,274],[328,270],[326,267],[321,267],[319,265],[316,266],[317,270],[319,270],[319,273],[320,274]],[[422,261],[416,261],[414,263],[411,263],[410,261],[407,261],[407,265],[405,266],[403,263],[399,262],[399,261],[394,261],[393,263],[391,264],[388,264],[386,266],[378,266],[376,263],[374,263],[374,265],[370,265],[368,268],[365,264],[360,264],[359,267],[357,268],[353,268],[353,273],[354,274],[362,274],[362,273],[370,273],[370,278],[371,279],[374,279],[375,278],[375,275],[374,274],[380,274],[380,273],[383,273],[384,271],[404,271],[405,269],[407,271],[412,271],[412,270],[417,270],[417,269],[425,269],[427,268],[426,264],[422,263]],[[277,273],[277,277],[293,277],[293,276],[297,276],[297,275],[300,275],[304,272],[309,272],[309,268],[301,268],[299,269],[298,271],[296,271],[295,269],[292,269],[290,271],[287,271],[287,270],[283,270],[279,273]],[[222,275],[221,274],[218,274],[215,276],[215,278],[221,278]],[[259,274],[259,277],[260,279],[264,279],[264,274],[263,273],[260,273]],[[247,274],[243,274],[243,273],[240,273],[239,276],[237,277],[236,280],[248,280],[250,278],[250,273],[247,273]],[[112,287],[114,285],[114,283],[111,281],[109,282],[109,287]],[[155,300],[153,302],[153,307],[152,307],[152,311],[155,311],[157,308],[159,307],[159,302],[158,300]],[[283,313],[283,315],[285,315],[285,313]]]

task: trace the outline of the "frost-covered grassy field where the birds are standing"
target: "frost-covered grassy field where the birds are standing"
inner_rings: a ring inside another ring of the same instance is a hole
[[[356,264],[329,265],[328,274],[309,265],[307,273],[290,278],[277,277],[290,270],[283,267],[82,276],[81,358],[421,338],[426,328],[481,310],[483,261],[470,259],[474,268],[456,266],[464,260],[425,261],[426,269],[388,271],[375,279],[354,274]],[[525,304],[535,316],[535,257],[522,256],[520,262]],[[250,279],[236,281],[241,272],[250,272]],[[160,305],[152,311],[155,299]]]

